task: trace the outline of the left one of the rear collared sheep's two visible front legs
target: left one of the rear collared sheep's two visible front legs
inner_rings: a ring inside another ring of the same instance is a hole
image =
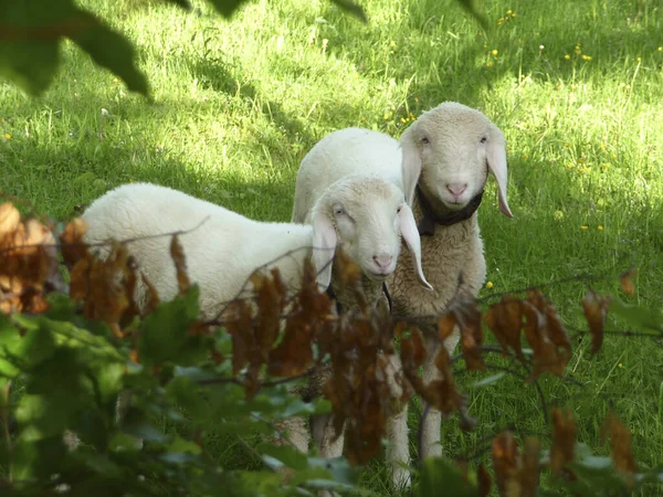
[[[402,387],[397,382],[396,376],[401,370],[401,362],[398,355],[387,356],[388,367],[387,384],[389,385],[389,394],[392,402],[397,403],[402,393]],[[397,403],[398,405],[398,403]],[[410,442],[408,437],[408,404],[401,406],[400,411],[389,416],[387,420],[387,437],[389,445],[387,446],[385,457],[391,466],[391,482],[393,488],[408,488],[410,486]]]

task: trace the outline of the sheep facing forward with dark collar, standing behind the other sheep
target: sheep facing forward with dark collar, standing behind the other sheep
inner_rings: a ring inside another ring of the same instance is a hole
[[[503,133],[481,112],[452,102],[423,113],[403,133],[400,144],[368,129],[332,133],[302,161],[293,220],[302,219],[313,208],[327,184],[356,171],[377,173],[401,188],[419,220],[422,266],[434,292],[420,288],[410,267],[398,264],[387,281],[393,316],[440,314],[456,290],[476,296],[485,279],[486,264],[475,211],[488,171],[497,183],[499,210],[512,218],[506,198]],[[421,328],[428,351],[423,379],[429,382],[438,374],[433,361],[439,350],[435,319],[424,321]],[[445,341],[450,352],[459,338],[456,329]],[[399,364],[393,367],[399,368]],[[394,393],[398,394],[398,388]],[[440,424],[441,413],[431,409],[422,426],[423,454],[420,456],[442,454]],[[392,465],[393,483],[409,485],[410,474],[402,467],[410,458],[407,405],[389,420],[388,436],[387,459]]]

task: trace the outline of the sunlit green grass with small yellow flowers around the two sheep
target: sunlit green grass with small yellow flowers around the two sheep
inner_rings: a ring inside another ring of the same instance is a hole
[[[200,1],[191,14],[128,0],[83,3],[137,43],[156,103],[127,94],[70,44],[42,97],[0,85],[0,188],[36,211],[67,219],[115,186],[152,181],[285,221],[298,162],[322,136],[359,125],[398,137],[411,116],[459,101],[508,140],[515,219],[498,213],[492,183],[480,212],[491,292],[638,266],[636,297],[624,298],[662,307],[659,2],[498,0],[483,6],[487,34],[455,2],[436,0],[366,0],[368,25],[322,0],[253,2],[230,22]],[[507,10],[517,15],[499,23]],[[594,287],[617,292],[613,281]],[[586,289],[546,288],[569,326],[581,326]],[[636,459],[663,464],[661,339],[611,335],[593,360],[587,340],[576,341],[569,374],[583,387],[546,377],[548,404],[571,406],[579,438],[601,454],[600,424],[612,406]],[[471,390],[478,376],[459,378],[480,424],[465,434],[455,417],[445,422],[446,455],[485,462],[486,438],[507,425],[548,436],[533,387],[505,378]],[[209,444],[228,467],[255,466],[232,441],[210,435]],[[362,484],[398,495],[380,462]]]

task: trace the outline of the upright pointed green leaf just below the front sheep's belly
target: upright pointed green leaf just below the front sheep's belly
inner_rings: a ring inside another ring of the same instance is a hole
[[[198,286],[193,285],[183,297],[161,303],[143,321],[138,351],[144,366],[172,361],[196,364],[204,359],[207,349],[201,336],[190,336],[189,326],[198,317]]]

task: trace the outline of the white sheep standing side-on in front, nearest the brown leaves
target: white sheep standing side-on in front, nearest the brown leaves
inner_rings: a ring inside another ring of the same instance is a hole
[[[128,243],[129,252],[160,298],[170,299],[177,294],[170,237],[145,236],[190,230],[179,237],[189,277],[200,286],[203,316],[215,315],[240,295],[253,271],[269,263],[267,267],[278,267],[288,288],[296,289],[304,260],[312,256],[318,285],[327,288],[337,242],[365,274],[383,281],[396,267],[402,232],[424,281],[414,220],[400,190],[378,178],[347,178],[319,200],[311,224],[267,223],[169,188],[125,184],[85,211],[85,241],[136,239]],[[138,305],[144,300],[139,289]]]

